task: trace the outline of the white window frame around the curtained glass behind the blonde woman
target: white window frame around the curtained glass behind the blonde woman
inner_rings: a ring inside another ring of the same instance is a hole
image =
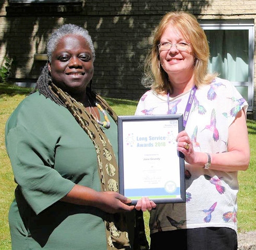
[[[203,30],[248,30],[248,81],[231,81],[234,86],[247,86],[248,111],[253,110],[254,102],[254,20],[253,19],[226,19],[226,20],[199,20]]]

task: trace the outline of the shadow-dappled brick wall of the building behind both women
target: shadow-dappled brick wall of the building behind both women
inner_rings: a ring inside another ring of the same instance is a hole
[[[0,0],[0,66],[5,56],[15,57],[13,77],[35,81],[45,61],[34,60],[34,54],[45,53],[53,29],[75,23],[87,28],[94,41],[94,89],[103,96],[138,100],[145,91],[140,66],[154,28],[165,12],[178,9],[200,19],[254,19],[256,1],[84,0],[11,6]]]

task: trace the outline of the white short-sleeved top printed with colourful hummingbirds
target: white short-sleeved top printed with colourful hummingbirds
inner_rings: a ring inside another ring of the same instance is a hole
[[[184,114],[190,91],[176,97],[145,92],[135,115]],[[168,107],[169,103],[169,107]],[[215,78],[194,96],[186,132],[194,151],[227,152],[228,128],[248,103],[229,81]],[[239,136],[239,135],[238,135]],[[172,167],[172,159],[170,159]],[[237,171],[193,168],[185,162],[186,203],[158,204],[150,212],[151,233],[176,229],[228,227],[237,232]]]

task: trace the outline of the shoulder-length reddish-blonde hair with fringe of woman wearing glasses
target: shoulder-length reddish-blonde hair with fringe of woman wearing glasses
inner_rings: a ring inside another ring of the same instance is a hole
[[[211,83],[217,74],[208,73],[210,51],[206,35],[195,16],[188,12],[175,11],[165,14],[156,29],[153,46],[144,62],[142,84],[157,93],[172,93],[172,85],[169,83],[168,75],[160,65],[157,46],[169,24],[172,24],[173,28],[184,35],[184,39],[191,44],[194,53],[194,84],[200,86]]]

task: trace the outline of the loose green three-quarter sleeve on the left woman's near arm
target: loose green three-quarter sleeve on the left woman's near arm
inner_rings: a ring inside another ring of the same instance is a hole
[[[32,104],[33,98],[24,101],[8,119],[5,141],[15,181],[39,214],[64,197],[75,183],[55,169],[56,148],[62,135],[59,118],[47,115],[47,105]]]

